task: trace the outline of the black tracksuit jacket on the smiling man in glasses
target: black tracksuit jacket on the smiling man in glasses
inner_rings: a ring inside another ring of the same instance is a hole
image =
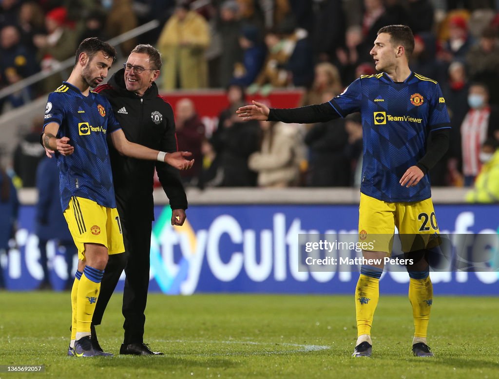
[[[177,151],[173,110],[159,96],[156,83],[153,82],[146,93],[139,97],[126,90],[124,69],[121,69],[107,84],[97,87],[95,92],[109,100],[128,141],[166,153]],[[133,216],[153,220],[155,166],[161,185],[170,199],[171,208],[187,209],[187,197],[177,169],[166,163],[122,156],[112,144],[109,144],[109,154],[121,218]]]

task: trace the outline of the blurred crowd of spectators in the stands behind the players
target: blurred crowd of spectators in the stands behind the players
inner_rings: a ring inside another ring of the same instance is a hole
[[[247,94],[265,97],[276,88],[303,87],[300,105],[328,101],[360,75],[375,73],[369,51],[381,26],[407,24],[416,40],[411,69],[439,82],[453,126],[451,148],[430,172],[432,185],[471,187],[494,163],[484,144],[495,151],[499,141],[498,6],[493,0],[2,0],[1,85],[57,67],[82,38],[107,39],[159,19],[159,28],[119,46],[123,55],[154,41],[164,91],[227,89],[229,107],[213,132],[191,100],[176,106],[179,148],[192,151],[197,164],[184,173],[187,186],[359,186],[358,115],[282,125],[241,122],[235,110]],[[63,79],[52,75],[5,101],[19,106]],[[29,160],[43,155],[39,128],[33,126],[14,158],[28,187],[36,167]]]

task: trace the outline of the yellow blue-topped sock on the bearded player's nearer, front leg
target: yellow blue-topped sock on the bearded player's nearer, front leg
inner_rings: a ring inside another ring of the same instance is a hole
[[[104,271],[86,266],[78,284],[76,331],[90,336],[90,324],[99,297],[100,280]],[[81,336],[81,335],[79,335]]]

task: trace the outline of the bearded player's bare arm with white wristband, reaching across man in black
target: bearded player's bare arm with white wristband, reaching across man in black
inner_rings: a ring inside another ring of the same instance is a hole
[[[111,141],[120,154],[128,157],[148,161],[158,160],[160,162],[168,163],[170,166],[173,166],[179,170],[189,170],[194,164],[194,160],[187,159],[192,155],[192,153],[181,151],[175,153],[165,153],[146,148],[145,146],[128,141],[123,133],[123,130],[121,129],[111,133]]]

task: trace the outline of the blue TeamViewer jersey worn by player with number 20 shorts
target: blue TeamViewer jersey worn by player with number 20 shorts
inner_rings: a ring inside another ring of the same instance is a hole
[[[386,73],[363,75],[329,103],[342,117],[361,113],[362,193],[388,202],[431,197],[428,175],[415,187],[399,181],[425,155],[429,133],[451,127],[436,81],[416,73],[404,82]]]

